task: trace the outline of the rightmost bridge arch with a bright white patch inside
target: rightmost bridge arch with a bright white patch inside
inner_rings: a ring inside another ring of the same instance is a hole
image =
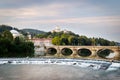
[[[97,51],[97,56],[104,59],[112,59],[116,54],[113,50],[104,48]]]

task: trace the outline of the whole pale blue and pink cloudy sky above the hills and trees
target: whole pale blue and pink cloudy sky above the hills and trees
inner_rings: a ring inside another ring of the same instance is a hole
[[[120,0],[0,0],[2,24],[120,42]]]

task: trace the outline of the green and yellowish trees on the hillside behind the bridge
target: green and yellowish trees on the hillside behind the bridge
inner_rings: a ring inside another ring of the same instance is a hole
[[[109,41],[103,38],[88,38],[86,36],[79,36],[72,32],[48,32],[45,34],[37,35],[38,38],[52,38],[52,43],[54,45],[75,45],[75,46],[91,46],[91,45],[100,45],[100,46],[115,46],[116,42]]]

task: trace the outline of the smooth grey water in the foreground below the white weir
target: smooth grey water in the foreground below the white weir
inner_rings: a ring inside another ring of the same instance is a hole
[[[120,80],[119,74],[63,65],[0,65],[0,80]]]

